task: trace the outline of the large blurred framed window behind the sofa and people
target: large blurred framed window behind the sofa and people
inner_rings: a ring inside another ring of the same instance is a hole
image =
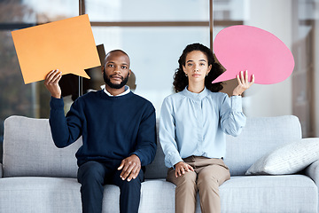
[[[136,94],[152,101],[158,117],[162,100],[174,92],[173,75],[186,44],[198,42],[211,46],[222,28],[233,25],[252,25],[274,33],[292,50],[297,69],[284,83],[254,85],[244,101],[246,115],[296,114],[300,117],[304,136],[316,136],[319,114],[315,114],[315,106],[319,105],[319,98],[314,81],[318,79],[319,66],[315,62],[318,48],[314,43],[318,38],[318,6],[315,0],[1,1],[0,145],[5,118],[12,114],[48,118],[50,112],[50,93],[43,82],[23,83],[11,31],[79,13],[89,15],[99,48],[105,52],[127,51],[136,76],[132,89],[136,84]],[[104,84],[100,69],[88,70],[88,73],[90,80],[63,77],[73,90],[66,91],[66,111],[73,101],[72,94],[76,99],[79,93],[100,90]],[[226,90],[230,93],[234,86],[236,81],[227,82]]]

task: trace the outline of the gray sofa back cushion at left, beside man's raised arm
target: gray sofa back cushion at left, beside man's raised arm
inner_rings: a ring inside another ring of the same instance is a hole
[[[4,177],[76,177],[75,153],[80,146],[81,138],[57,148],[48,119],[11,116],[4,121]]]

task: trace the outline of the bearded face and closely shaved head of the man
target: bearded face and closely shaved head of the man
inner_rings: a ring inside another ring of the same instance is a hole
[[[130,74],[128,56],[121,51],[109,53],[105,58],[103,71],[106,85],[113,89],[121,89],[128,82]]]

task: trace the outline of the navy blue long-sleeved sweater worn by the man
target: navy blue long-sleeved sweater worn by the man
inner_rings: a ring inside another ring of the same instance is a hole
[[[83,145],[75,154],[79,166],[88,161],[121,161],[131,154],[139,157],[142,166],[154,159],[155,109],[132,91],[119,97],[91,91],[76,99],[66,116],[63,99],[51,98],[50,105],[56,146],[68,146],[82,136]]]

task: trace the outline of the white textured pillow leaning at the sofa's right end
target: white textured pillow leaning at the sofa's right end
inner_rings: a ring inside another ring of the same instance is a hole
[[[246,171],[245,175],[287,175],[305,169],[319,159],[319,138],[304,138],[279,147]]]

